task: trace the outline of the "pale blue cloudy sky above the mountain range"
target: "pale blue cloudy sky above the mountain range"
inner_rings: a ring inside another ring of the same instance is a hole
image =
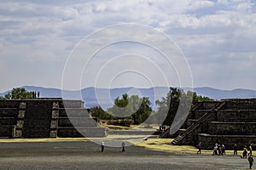
[[[26,85],[256,89],[255,3],[2,0],[0,92]],[[168,53],[180,58],[168,62]]]

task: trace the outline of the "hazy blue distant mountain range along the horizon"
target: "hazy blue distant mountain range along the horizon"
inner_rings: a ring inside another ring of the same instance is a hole
[[[103,108],[109,108],[113,105],[113,99],[121,97],[122,94],[137,94],[148,97],[154,108],[154,101],[166,97],[169,88],[84,88],[81,91],[68,91],[57,88],[42,88],[34,86],[24,86],[27,91],[40,92],[41,98],[63,98],[63,99],[82,99],[86,108],[101,105]],[[184,88],[185,91],[191,88]],[[10,90],[9,90],[10,91]],[[3,96],[9,91],[0,94]],[[237,88],[233,90],[220,90],[216,88],[193,88],[196,94],[207,96],[211,99],[237,99],[237,98],[256,98],[256,90]]]

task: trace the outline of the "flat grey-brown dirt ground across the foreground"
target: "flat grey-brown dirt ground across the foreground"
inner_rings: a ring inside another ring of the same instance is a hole
[[[125,150],[105,147],[101,152],[98,144],[87,140],[0,140],[0,169],[248,169],[247,160],[239,156],[164,152],[134,145]]]

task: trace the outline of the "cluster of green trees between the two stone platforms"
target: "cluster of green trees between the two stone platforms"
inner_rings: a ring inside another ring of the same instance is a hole
[[[212,99],[191,91],[185,93],[180,88],[170,88],[166,97],[156,100],[155,104],[159,106],[157,111],[152,111],[148,98],[123,94],[121,98],[114,99],[114,105],[108,108],[108,111],[103,111],[100,106],[91,108],[91,116],[102,120],[122,119],[122,124],[125,124],[125,119],[131,119],[134,124],[141,124],[150,116],[150,120],[147,120],[148,123],[162,123],[171,126],[179,106],[179,112],[183,114],[184,111],[189,111],[196,102],[205,100]]]

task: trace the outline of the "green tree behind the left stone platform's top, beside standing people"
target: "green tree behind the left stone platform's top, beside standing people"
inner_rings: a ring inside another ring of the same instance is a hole
[[[12,91],[4,95],[4,99],[32,99],[32,92],[27,92],[25,88],[13,88]]]

